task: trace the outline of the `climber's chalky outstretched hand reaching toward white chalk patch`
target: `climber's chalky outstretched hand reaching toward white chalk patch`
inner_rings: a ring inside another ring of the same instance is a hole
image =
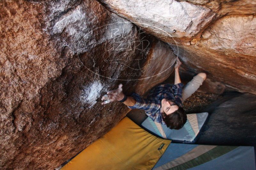
[[[119,84],[117,89],[110,90],[107,92],[107,94],[102,96],[101,100],[104,101],[101,104],[122,100],[124,98],[122,86],[122,84]]]

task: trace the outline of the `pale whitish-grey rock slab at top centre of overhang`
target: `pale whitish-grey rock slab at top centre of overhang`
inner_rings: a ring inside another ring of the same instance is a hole
[[[145,27],[151,34],[167,41],[169,41],[168,35],[179,38],[195,37],[216,15],[207,7],[175,0],[104,0],[101,2],[121,17]]]

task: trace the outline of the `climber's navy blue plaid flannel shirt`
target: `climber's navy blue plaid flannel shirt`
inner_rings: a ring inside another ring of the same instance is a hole
[[[162,111],[160,109],[161,100],[165,98],[176,103],[179,107],[182,107],[183,86],[183,83],[175,85],[164,83],[151,89],[147,98],[142,98],[137,93],[133,93],[131,96],[136,100],[136,104],[128,106],[128,108],[145,110],[146,114],[154,122],[165,124]]]

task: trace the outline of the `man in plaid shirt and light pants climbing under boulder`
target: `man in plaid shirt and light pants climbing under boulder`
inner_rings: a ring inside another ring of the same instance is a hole
[[[145,110],[153,121],[166,124],[170,129],[181,129],[187,121],[182,103],[202,85],[206,79],[206,74],[197,74],[184,86],[179,75],[180,65],[181,61],[177,58],[174,66],[174,84],[160,84],[150,90],[147,98],[142,98],[137,93],[126,96],[122,92],[122,84],[119,84],[117,89],[108,91],[107,94],[102,96],[101,100],[104,101],[101,104],[119,101],[130,109]]]

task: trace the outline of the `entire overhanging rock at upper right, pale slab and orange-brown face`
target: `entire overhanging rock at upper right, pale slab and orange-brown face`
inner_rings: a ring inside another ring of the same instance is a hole
[[[253,0],[101,0],[108,9],[173,46],[184,70],[204,71],[256,94],[256,2]]]

